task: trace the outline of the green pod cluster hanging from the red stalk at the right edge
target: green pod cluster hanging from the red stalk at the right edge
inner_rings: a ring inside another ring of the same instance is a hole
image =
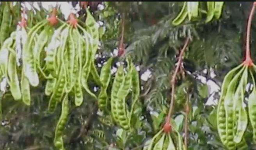
[[[254,74],[256,66],[245,62],[228,72],[222,83],[222,90],[217,109],[217,127],[222,143],[234,150],[244,142],[244,132],[247,128],[247,110],[243,107],[245,86],[252,79],[254,88],[248,97],[248,113],[253,129],[253,140],[256,142],[256,85]]]

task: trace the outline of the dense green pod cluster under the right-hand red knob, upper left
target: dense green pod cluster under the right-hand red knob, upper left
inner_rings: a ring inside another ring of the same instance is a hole
[[[75,105],[80,106],[83,102],[82,87],[96,98],[87,85],[90,74],[96,74],[98,80],[100,78],[94,66],[99,42],[96,21],[87,9],[87,30],[77,23],[74,14],[69,16],[68,23],[55,30],[46,47],[45,74],[48,75],[44,92],[51,96],[48,105],[50,112],[55,110],[65,93],[74,96]]]

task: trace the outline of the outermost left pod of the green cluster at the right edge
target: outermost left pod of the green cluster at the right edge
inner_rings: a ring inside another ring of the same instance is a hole
[[[218,108],[217,108],[217,129],[220,136],[220,140],[224,145],[227,142],[224,97],[226,96],[227,88],[231,79],[233,78],[234,74],[238,71],[238,69],[241,69],[241,67],[242,67],[242,64],[238,65],[237,67],[229,71],[222,83],[221,94],[220,94],[220,99],[219,99]]]

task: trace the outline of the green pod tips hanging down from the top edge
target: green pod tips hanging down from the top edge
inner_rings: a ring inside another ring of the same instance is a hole
[[[203,10],[204,2],[184,2],[183,7],[172,21],[172,25],[180,25],[188,17],[189,21],[200,20],[202,13],[206,14],[205,22],[210,22],[213,18],[219,19],[224,2],[206,2],[207,11]]]

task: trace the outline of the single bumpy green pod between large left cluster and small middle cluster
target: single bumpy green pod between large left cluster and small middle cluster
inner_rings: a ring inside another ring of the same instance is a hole
[[[100,72],[100,82],[101,82],[101,91],[98,96],[98,104],[99,108],[104,110],[107,107],[108,95],[107,95],[107,87],[111,78],[111,65],[113,58],[109,58],[107,63],[103,65]]]

